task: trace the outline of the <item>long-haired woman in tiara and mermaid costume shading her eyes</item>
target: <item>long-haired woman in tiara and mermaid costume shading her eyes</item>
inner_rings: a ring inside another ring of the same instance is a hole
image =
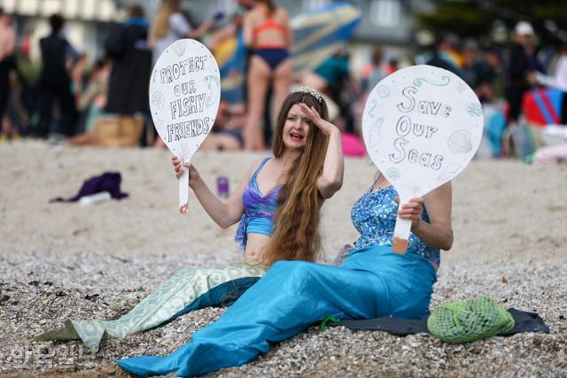
[[[235,239],[244,261],[235,266],[188,267],[118,320],[66,320],[40,340],[82,339],[91,349],[101,340],[158,327],[175,317],[236,299],[277,260],[315,261],[320,251],[320,207],[340,189],[344,162],[338,128],[327,121],[327,105],[311,89],[285,98],[277,119],[274,158],[255,163],[226,204],[208,189],[195,166],[190,188],[221,228],[238,220]],[[173,158],[175,173],[182,165]]]

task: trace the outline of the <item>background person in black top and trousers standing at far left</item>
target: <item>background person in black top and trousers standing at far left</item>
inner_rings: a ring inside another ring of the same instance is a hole
[[[71,136],[76,127],[77,110],[66,64],[69,58],[76,62],[79,54],[61,34],[64,23],[63,17],[53,14],[50,17],[51,33],[39,42],[43,67],[39,77],[40,120],[35,135],[43,138],[50,133],[55,100],[58,101],[61,112],[60,131]]]

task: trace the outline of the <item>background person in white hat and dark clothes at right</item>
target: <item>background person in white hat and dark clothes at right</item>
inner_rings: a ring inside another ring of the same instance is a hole
[[[522,112],[522,98],[534,82],[527,49],[532,46],[533,28],[529,22],[520,21],[514,29],[514,41],[510,43],[508,69],[505,76],[505,96],[509,104],[508,123],[517,121]]]

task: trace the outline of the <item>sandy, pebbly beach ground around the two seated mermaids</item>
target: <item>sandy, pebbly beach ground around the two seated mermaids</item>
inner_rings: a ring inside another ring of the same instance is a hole
[[[261,157],[198,152],[193,162],[213,188],[220,174],[235,188]],[[222,309],[194,312],[144,335],[103,343],[96,356],[80,343],[31,340],[67,317],[120,316],[181,266],[237,261],[236,227],[218,228],[194,197],[187,215],[177,212],[166,150],[4,143],[0,162],[0,373],[120,375],[113,359],[172,351],[220,316]],[[49,203],[74,196],[82,181],[105,171],[122,174],[128,198],[89,207]],[[356,239],[350,208],[374,173],[369,159],[346,159],[345,185],[323,208],[330,258]],[[473,161],[454,180],[455,242],[442,254],[432,303],[486,294],[540,312],[549,335],[455,346],[427,335],[314,328],[220,374],[567,376],[566,183],[564,165]]]

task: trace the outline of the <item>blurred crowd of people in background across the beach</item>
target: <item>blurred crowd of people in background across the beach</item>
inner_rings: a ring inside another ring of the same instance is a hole
[[[19,72],[17,35],[12,17],[0,11],[0,121],[2,137],[29,135],[83,145],[100,143],[101,130],[129,127],[130,139],[142,146],[163,146],[151,123],[148,86],[151,67],[166,47],[180,38],[205,42],[214,54],[223,43],[245,43],[245,93],[241,101],[221,98],[213,133],[206,150],[265,150],[271,143],[273,114],[295,84],[322,93],[330,103],[331,120],[344,133],[347,154],[362,155],[361,112],[369,91],[378,81],[405,65],[439,66],[459,75],[477,93],[481,103],[505,99],[507,123],[521,120],[524,94],[537,85],[535,73],[555,76],[567,88],[567,44],[555,59],[539,60],[532,25],[521,21],[508,50],[479,46],[474,39],[440,35],[414,58],[392,56],[374,47],[360,72],[353,72],[346,47],[296,77],[291,47],[290,16],[271,0],[238,0],[238,10],[219,27],[226,15],[217,12],[198,24],[180,0],[162,0],[148,19],[144,8],[132,5],[128,18],[105,42],[103,57],[79,53],[61,32],[65,19],[50,17],[50,34],[40,44],[42,70],[27,82]],[[21,39],[21,49],[28,39]],[[29,49],[29,47],[27,47]],[[96,60],[94,58],[97,58]],[[89,63],[95,61],[96,63]],[[552,64],[548,64],[549,62]],[[563,96],[561,123],[567,123],[567,96]],[[133,135],[133,136],[132,136]]]

